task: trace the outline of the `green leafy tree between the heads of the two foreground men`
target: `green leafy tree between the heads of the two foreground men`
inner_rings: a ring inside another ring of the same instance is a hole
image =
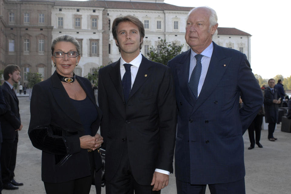
[[[166,39],[162,39],[157,48],[153,46],[146,53],[146,57],[154,62],[159,62],[167,65],[168,61],[179,55],[182,51],[183,45],[177,45],[176,43],[166,42]]]

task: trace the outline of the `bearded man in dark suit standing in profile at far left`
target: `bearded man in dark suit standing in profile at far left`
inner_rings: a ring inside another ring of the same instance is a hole
[[[3,71],[3,77],[5,82],[2,85],[2,92],[7,112],[0,116],[3,137],[0,162],[4,189],[12,190],[23,185],[23,183],[14,180],[18,131],[22,129],[19,102],[13,89],[13,84],[18,83],[21,78],[19,67],[17,65],[7,65]]]

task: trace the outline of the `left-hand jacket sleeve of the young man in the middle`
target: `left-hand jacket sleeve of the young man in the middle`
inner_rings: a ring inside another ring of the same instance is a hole
[[[108,132],[108,123],[109,123],[109,104],[108,104],[108,97],[107,93],[103,84],[103,71],[102,69],[99,70],[98,76],[98,105],[99,108],[102,110],[102,120],[100,124],[100,135],[103,137],[102,147],[106,148],[106,139],[107,139],[107,132]]]

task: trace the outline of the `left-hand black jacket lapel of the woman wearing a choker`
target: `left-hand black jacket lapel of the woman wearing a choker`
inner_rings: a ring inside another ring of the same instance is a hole
[[[82,125],[79,114],[75,107],[70,102],[70,97],[67,94],[56,72],[51,76],[51,79],[52,79],[52,95],[54,96],[55,101],[57,102],[59,107],[73,121],[76,121]]]

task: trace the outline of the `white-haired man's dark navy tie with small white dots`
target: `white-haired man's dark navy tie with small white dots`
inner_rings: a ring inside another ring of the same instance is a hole
[[[203,55],[200,55],[200,54],[195,55],[196,65],[191,73],[191,77],[189,81],[190,89],[192,90],[196,99],[198,98],[198,84],[199,84],[199,79],[200,79],[201,70],[202,70],[202,64],[201,64],[202,57]]]

